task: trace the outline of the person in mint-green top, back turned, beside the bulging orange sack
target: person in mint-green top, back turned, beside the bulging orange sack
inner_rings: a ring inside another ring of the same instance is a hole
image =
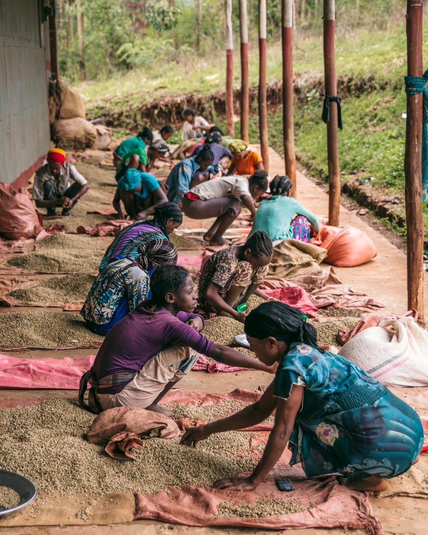
[[[256,231],[264,231],[272,241],[293,238],[308,242],[310,225],[314,232],[319,231],[317,216],[290,196],[291,189],[292,183],[288,177],[277,175],[272,180],[272,197],[259,204],[250,235]],[[295,215],[297,217],[294,217]]]

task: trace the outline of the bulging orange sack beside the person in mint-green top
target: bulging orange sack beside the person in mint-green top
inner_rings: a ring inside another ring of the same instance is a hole
[[[378,254],[375,244],[365,232],[349,226],[323,226],[311,243],[327,249],[324,262],[338,268],[365,264]]]

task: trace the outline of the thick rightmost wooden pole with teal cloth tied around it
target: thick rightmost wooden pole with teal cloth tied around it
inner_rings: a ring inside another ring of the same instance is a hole
[[[407,74],[422,77],[423,0],[407,0]],[[407,95],[406,175],[407,307],[424,319],[424,219],[422,215],[423,94]]]

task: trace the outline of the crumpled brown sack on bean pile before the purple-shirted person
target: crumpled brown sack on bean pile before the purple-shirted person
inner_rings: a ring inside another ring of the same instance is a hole
[[[101,412],[90,426],[88,441],[107,444],[114,435],[126,431],[140,437],[175,438],[180,434],[177,424],[159,412],[139,407],[115,407]]]

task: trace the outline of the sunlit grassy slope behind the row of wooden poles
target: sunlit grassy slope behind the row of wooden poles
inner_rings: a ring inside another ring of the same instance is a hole
[[[424,33],[428,24],[424,25]],[[318,94],[323,80],[321,37],[296,36],[294,73],[302,88],[296,103],[295,143],[299,162],[314,177],[325,179],[326,128],[321,119],[322,97]],[[428,42],[424,43],[424,48]],[[406,33],[403,25],[376,32],[364,29],[337,35],[337,75],[349,78],[342,97],[343,130],[339,133],[339,158],[342,179],[374,177],[373,188],[382,188],[385,195],[404,196],[404,137],[406,111],[403,77],[406,74]],[[280,44],[268,49],[268,80],[281,76]],[[257,84],[258,54],[250,53],[250,83]],[[161,101],[188,91],[208,96],[224,87],[224,58],[212,61],[188,60],[185,64],[167,67],[154,66],[150,72],[134,71],[108,82],[94,82],[81,86],[90,114],[102,114],[105,106],[140,108],[144,102]],[[240,85],[239,53],[235,54],[234,82]],[[108,98],[108,100],[106,99]],[[258,118],[251,117],[251,141],[258,141]],[[216,117],[221,124],[224,117]],[[126,120],[117,125],[118,132],[126,131]],[[239,122],[236,124],[239,133]],[[282,152],[282,108],[269,113],[269,140]],[[351,171],[357,171],[350,174]],[[396,210],[404,212],[404,205]],[[428,209],[424,207],[426,238],[428,238]],[[391,227],[394,224],[385,221]],[[396,227],[401,234],[405,229]]]

